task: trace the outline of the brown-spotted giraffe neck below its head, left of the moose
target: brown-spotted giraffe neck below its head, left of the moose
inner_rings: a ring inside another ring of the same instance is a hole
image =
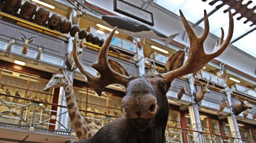
[[[93,131],[83,120],[79,108],[76,104],[76,98],[74,96],[73,86],[69,78],[66,76],[66,83],[64,84],[64,91],[67,104],[67,112],[71,119],[71,124],[74,132],[78,136],[79,140],[89,138],[94,135]]]

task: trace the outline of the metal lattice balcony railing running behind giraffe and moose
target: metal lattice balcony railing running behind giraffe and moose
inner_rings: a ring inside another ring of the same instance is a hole
[[[0,127],[62,136],[74,136],[71,124],[62,121],[68,116],[66,106],[2,93],[0,93],[0,97]],[[8,98],[15,99],[9,101],[23,100],[24,102],[22,103],[24,104],[20,104],[20,102],[9,102]],[[7,100],[5,101],[5,99]],[[92,128],[94,132],[97,132],[100,128],[118,118],[117,116],[85,110],[80,110],[80,112],[88,126]],[[90,115],[94,114],[95,116],[86,116],[88,113],[90,113]],[[199,139],[199,135],[203,136],[204,143],[237,143],[237,140],[242,140],[244,143],[253,143],[252,140],[216,135],[173,126],[166,127],[167,143],[194,143]]]

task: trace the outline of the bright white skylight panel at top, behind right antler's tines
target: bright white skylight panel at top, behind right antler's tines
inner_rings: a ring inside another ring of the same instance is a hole
[[[212,0],[208,0],[211,2]],[[215,6],[208,5],[209,2],[202,2],[202,0],[154,0],[157,5],[169,10],[180,16],[179,10],[182,10],[186,19],[195,24],[204,17],[204,10],[207,13],[214,10]],[[217,2],[218,3],[218,2]],[[217,4],[215,3],[215,5]],[[220,3],[219,3],[220,4]]]

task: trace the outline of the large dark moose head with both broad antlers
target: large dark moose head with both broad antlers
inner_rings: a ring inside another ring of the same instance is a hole
[[[109,84],[118,83],[125,86],[126,94],[121,101],[121,106],[123,107],[124,115],[130,120],[131,126],[137,127],[138,130],[161,126],[161,130],[163,130],[164,133],[169,113],[166,93],[171,87],[171,82],[177,77],[202,69],[202,67],[204,67],[204,65],[209,61],[218,57],[227,48],[230,40],[232,39],[234,22],[230,10],[230,24],[227,39],[223,42],[222,33],[220,39],[221,42],[217,45],[218,49],[212,54],[205,54],[203,47],[204,40],[207,38],[209,33],[209,22],[206,11],[204,11],[205,28],[200,37],[195,35],[181,11],[180,15],[190,40],[190,54],[188,60],[183,65],[185,52],[183,50],[179,50],[166,62],[164,73],[154,76],[123,76],[115,72],[109,66],[107,51],[117,27],[112,30],[107,37],[107,40],[102,45],[97,62],[92,64],[92,67],[99,72],[100,76],[93,76],[83,68],[76,52],[76,39],[78,32],[74,37],[74,61],[81,73],[87,77],[87,83],[99,96],[101,95],[104,87]]]

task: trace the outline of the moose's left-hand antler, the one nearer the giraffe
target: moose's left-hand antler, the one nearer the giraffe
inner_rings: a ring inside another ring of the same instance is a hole
[[[115,72],[110,66],[109,62],[107,60],[107,51],[109,49],[109,45],[111,43],[112,37],[114,36],[114,32],[116,31],[117,27],[115,27],[112,32],[109,34],[109,37],[107,37],[107,40],[102,45],[98,61],[92,64],[92,67],[96,69],[100,76],[93,76],[89,72],[87,72],[83,66],[81,65],[78,55],[76,52],[76,39],[78,36],[78,32],[76,33],[74,37],[73,42],[73,50],[74,50],[74,61],[76,63],[76,66],[78,69],[84,74],[87,78],[87,83],[94,89],[94,91],[101,96],[102,90],[105,86],[108,86],[109,84],[122,84],[123,86],[127,86],[128,81],[130,80],[129,76],[123,76],[117,72]]]

